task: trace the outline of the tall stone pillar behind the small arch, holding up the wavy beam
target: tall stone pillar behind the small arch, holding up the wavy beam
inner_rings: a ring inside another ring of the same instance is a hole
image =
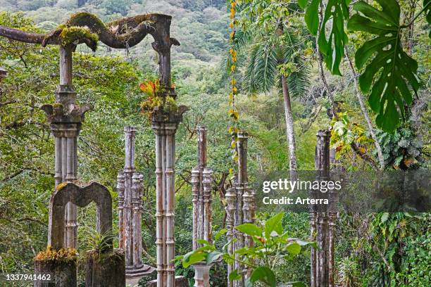
[[[55,184],[77,179],[77,136],[88,106],[78,106],[72,85],[72,52],[75,46],[60,46],[60,85],[56,103],[44,105],[51,132],[54,135]],[[68,203],[65,209],[66,248],[77,248],[77,208]]]

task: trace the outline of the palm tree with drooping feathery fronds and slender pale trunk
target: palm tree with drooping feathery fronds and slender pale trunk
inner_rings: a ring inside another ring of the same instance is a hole
[[[289,145],[289,167],[291,171],[297,168],[296,144],[292,115],[291,97],[304,94],[308,87],[308,65],[301,55],[304,43],[297,39],[292,30],[283,30],[284,40],[273,43],[261,36],[249,36],[249,43],[254,43],[249,49],[248,64],[244,72],[243,85],[251,93],[278,89],[283,96],[286,121],[286,136]],[[244,42],[245,43],[245,42]],[[289,71],[280,72],[282,67],[290,67]]]

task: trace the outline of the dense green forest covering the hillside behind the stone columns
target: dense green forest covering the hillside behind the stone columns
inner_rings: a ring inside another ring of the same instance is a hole
[[[389,115],[376,112],[367,101],[367,91],[357,82],[366,68],[358,68],[355,51],[373,35],[352,28],[345,35],[349,39],[345,49],[322,55],[316,47],[319,35],[310,32],[313,19],[306,10],[311,8],[301,8],[309,1],[242,2],[237,6],[236,35],[232,37],[230,1],[0,0],[0,25],[32,32],[49,32],[76,11],[89,11],[104,22],[150,12],[173,16],[171,37],[181,44],[172,48],[173,84],[178,103],[189,107],[176,136],[177,255],[192,249],[189,181],[196,165],[194,127],[198,123],[208,128],[215,231],[224,227],[224,194],[232,186],[232,125],[250,135],[251,183],[273,171],[313,170],[316,132],[329,128],[336,151],[334,167],[339,170],[430,169],[429,24],[425,15],[414,18],[429,2],[398,1],[403,23],[410,23],[399,39],[406,55],[417,61],[420,81],[411,103],[406,103],[405,110],[403,106],[404,119],[393,129],[381,121]],[[320,1],[310,5],[314,2]],[[326,5],[331,0],[323,2]],[[427,13],[430,18],[429,9]],[[158,58],[151,41],[147,37],[125,50],[99,44],[96,52],[81,45],[73,54],[73,84],[78,101],[92,105],[78,139],[78,178],[98,181],[111,191],[115,228],[116,177],[124,165],[123,127],[137,127],[136,165],[144,174],[144,260],[154,265],[154,133],[142,113],[146,95],[139,89],[139,83],[156,79]],[[323,42],[318,46],[322,51]],[[333,64],[337,60],[327,62],[328,55],[339,57],[339,70]],[[230,73],[232,65],[236,68]],[[0,84],[0,272],[25,273],[32,272],[32,258],[46,248],[48,203],[54,189],[54,139],[39,107],[55,101],[58,47],[42,48],[0,37],[0,66],[8,70]],[[237,89],[235,103],[230,99],[232,80]],[[336,117],[333,110],[339,112]],[[395,117],[389,121],[397,122],[398,113]],[[271,216],[271,212],[257,212],[256,222]],[[289,237],[306,239],[310,236],[308,220],[308,213],[287,212],[282,221]],[[89,248],[87,237],[95,224],[94,205],[80,209],[79,222],[83,251]],[[429,213],[340,213],[336,281],[340,286],[430,286],[430,223]],[[277,281],[307,283],[309,261],[306,248],[294,258],[277,258]],[[193,286],[192,267],[178,263],[176,272],[187,276]],[[223,264],[213,267],[213,286],[226,286],[226,274]]]

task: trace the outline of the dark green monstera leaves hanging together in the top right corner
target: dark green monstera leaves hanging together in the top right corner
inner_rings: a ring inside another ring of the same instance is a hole
[[[309,4],[307,0],[299,0],[298,4],[306,8],[308,30],[318,34],[318,48],[334,75],[341,75],[339,64],[348,41],[344,28],[347,20],[349,30],[377,35],[356,51],[355,63],[358,69],[365,68],[359,77],[359,86],[365,93],[370,92],[368,103],[377,113],[376,125],[392,132],[399,126],[399,118],[404,118],[405,105],[412,102],[411,90],[416,94],[419,89],[418,63],[403,51],[401,33],[423,12],[430,23],[431,1],[424,0],[423,9],[406,24],[401,24],[400,6],[395,0],[377,0],[377,8],[357,1],[353,9],[358,13],[349,19],[350,2],[329,0],[325,7],[323,0],[311,0]],[[319,13],[324,14],[320,26]],[[329,37],[325,33],[327,25],[332,25]]]

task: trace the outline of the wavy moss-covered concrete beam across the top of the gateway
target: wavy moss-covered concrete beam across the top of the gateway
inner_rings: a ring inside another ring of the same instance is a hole
[[[78,12],[58,29],[48,34],[25,32],[0,26],[0,36],[31,44],[64,44],[67,42],[85,43],[95,49],[97,39],[107,46],[116,49],[127,49],[135,46],[151,34],[159,49],[179,45],[176,39],[169,37],[170,15],[144,14],[122,18],[110,23],[103,23],[96,15],[88,12]],[[82,27],[82,28],[78,28]],[[66,30],[64,32],[64,30]]]

